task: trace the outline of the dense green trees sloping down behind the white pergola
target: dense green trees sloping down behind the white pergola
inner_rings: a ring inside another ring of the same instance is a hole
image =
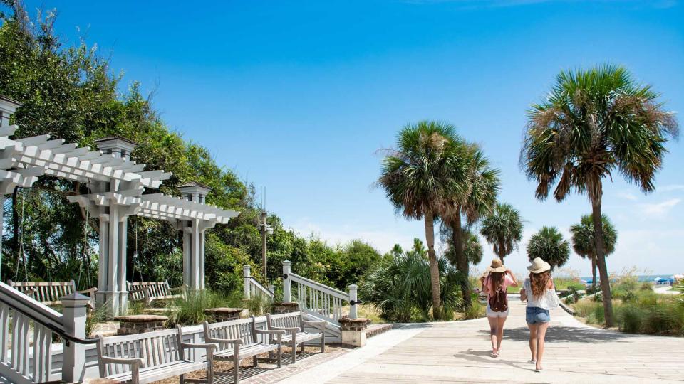
[[[147,164],[145,170],[173,173],[160,192],[177,196],[179,183],[199,181],[212,188],[207,203],[240,212],[227,225],[207,232],[207,287],[222,294],[239,289],[244,264],[252,265],[252,274],[263,282],[257,228],[261,210],[254,203],[253,186],[219,166],[206,148],[169,129],[137,82],[120,92],[120,76],[110,73],[94,46],[62,46],[53,34],[53,13],[33,23],[21,2],[4,4],[9,12],[0,16],[0,95],[23,104],[11,117],[19,125],[15,137],[50,134],[93,148],[95,139],[105,136],[133,139],[139,144],[133,160]],[[7,199],[3,281],[75,279],[81,289],[97,285],[98,218],[66,200],[87,188],[41,176],[34,188],[17,190]],[[269,215],[268,221],[274,227],[267,239],[269,282],[276,280],[276,285],[282,260],[293,261],[298,274],[346,289],[380,258],[360,240],[331,247],[286,230],[276,215]],[[181,250],[182,236],[165,221],[129,218],[126,278],[166,279],[179,286]]]

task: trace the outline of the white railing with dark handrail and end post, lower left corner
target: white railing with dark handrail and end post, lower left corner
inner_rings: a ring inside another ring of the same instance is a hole
[[[0,376],[21,384],[83,379],[85,347],[95,342],[85,338],[90,297],[61,299],[63,314],[0,282]],[[55,334],[63,341],[61,374],[53,372]]]

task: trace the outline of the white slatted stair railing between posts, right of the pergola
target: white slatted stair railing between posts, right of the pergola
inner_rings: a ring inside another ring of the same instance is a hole
[[[356,304],[359,304],[356,284],[349,286],[349,292],[343,292],[314,280],[301,277],[291,271],[292,263],[283,262],[283,301],[297,302],[301,311],[318,319],[338,324],[343,317],[356,319]],[[296,296],[293,295],[292,283],[296,284]],[[349,314],[345,314],[348,305]]]

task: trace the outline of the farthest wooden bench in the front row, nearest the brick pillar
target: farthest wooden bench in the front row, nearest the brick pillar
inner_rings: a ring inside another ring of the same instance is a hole
[[[306,321],[302,319],[301,312],[290,312],[287,314],[266,314],[266,324],[269,329],[286,331],[286,336],[282,337],[282,342],[292,347],[292,363],[297,361],[297,345],[301,344],[301,352],[304,353],[304,343],[306,341],[321,339],[321,352],[326,351],[326,322],[325,321]],[[304,326],[311,326],[320,332],[307,332]]]

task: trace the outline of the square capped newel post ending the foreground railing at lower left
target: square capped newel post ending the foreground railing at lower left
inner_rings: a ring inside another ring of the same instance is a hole
[[[90,297],[73,292],[59,299],[62,302],[62,326],[66,334],[86,338],[86,306]],[[86,375],[86,345],[64,340],[62,351],[62,381],[83,381]]]

